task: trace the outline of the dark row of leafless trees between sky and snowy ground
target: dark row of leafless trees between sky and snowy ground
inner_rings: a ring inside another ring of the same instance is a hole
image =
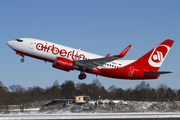
[[[66,80],[61,85],[56,80],[52,86],[45,89],[39,86],[24,88],[21,85],[11,85],[8,88],[0,81],[0,105],[20,105],[22,111],[26,103],[73,98],[76,95],[89,95],[94,100],[107,98],[129,101],[178,101],[180,89],[173,90],[165,84],[155,89],[143,81],[134,88],[122,89],[112,85],[106,90],[98,79],[94,79],[91,84],[74,84],[72,80]]]

